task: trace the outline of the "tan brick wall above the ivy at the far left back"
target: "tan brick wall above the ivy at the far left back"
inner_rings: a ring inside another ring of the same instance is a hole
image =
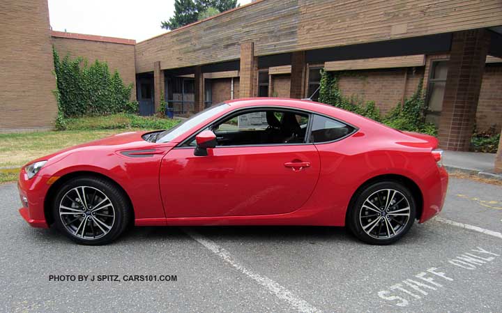
[[[134,40],[123,40],[120,38],[103,38],[101,36],[84,36],[80,38],[88,38],[86,40],[75,38],[56,37],[59,32],[54,32],[52,44],[62,58],[66,54],[70,54],[73,58],[82,56],[89,63],[96,61],[107,61],[110,72],[118,70],[124,84],[133,84],[131,99],[136,99],[136,69],[135,69],[135,46]],[[62,33],[65,34],[65,33]],[[69,33],[67,36],[80,35]],[[64,35],[62,35],[64,36]],[[82,35],[81,35],[82,36]],[[73,36],[75,37],[75,36]],[[79,37],[77,37],[79,38]],[[94,38],[94,40],[89,40]],[[98,41],[98,40],[114,40],[116,42]],[[120,43],[123,40],[123,43]]]

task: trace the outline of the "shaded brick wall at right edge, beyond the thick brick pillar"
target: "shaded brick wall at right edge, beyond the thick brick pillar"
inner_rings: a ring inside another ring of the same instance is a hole
[[[494,126],[502,128],[502,63],[487,64],[481,82],[481,91],[476,114],[476,128],[487,130]]]

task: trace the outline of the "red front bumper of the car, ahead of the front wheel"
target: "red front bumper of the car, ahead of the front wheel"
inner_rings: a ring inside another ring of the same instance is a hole
[[[47,184],[49,179],[50,177],[38,175],[28,179],[24,169],[20,172],[17,190],[20,194],[22,208],[19,209],[19,212],[32,227],[49,228],[44,212],[45,194],[50,188],[50,185]],[[27,204],[22,200],[23,197],[26,197]]]

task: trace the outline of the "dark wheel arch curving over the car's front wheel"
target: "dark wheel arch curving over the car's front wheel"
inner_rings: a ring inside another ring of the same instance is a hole
[[[77,178],[77,177],[101,178],[101,179],[104,179],[105,181],[109,181],[109,183],[112,183],[117,188],[119,188],[119,190],[121,190],[121,192],[123,192],[124,196],[126,197],[126,201],[129,202],[130,208],[132,208],[131,223],[134,223],[135,212],[134,212],[134,207],[132,206],[132,201],[129,197],[129,194],[126,192],[126,190],[124,190],[124,188],[119,183],[114,181],[114,179],[109,178],[109,176],[106,176],[104,174],[100,174],[96,171],[72,171],[68,174],[61,176],[54,184],[52,184],[50,186],[49,190],[47,190],[47,195],[45,196],[45,199],[44,199],[44,215],[45,215],[45,220],[48,225],[51,225],[54,223],[54,218],[51,213],[51,204],[52,204],[52,201],[54,201],[54,197],[57,193],[57,190],[59,190],[59,188],[61,188],[61,186],[64,185],[64,183],[66,183],[67,181],[70,181],[70,179]]]

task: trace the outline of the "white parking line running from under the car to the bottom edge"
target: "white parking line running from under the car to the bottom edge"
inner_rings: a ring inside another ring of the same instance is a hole
[[[195,231],[189,229],[184,229],[184,231],[195,241],[197,241],[201,245],[204,245],[204,247],[208,248],[208,250],[218,255],[218,257],[222,258],[231,266],[234,266],[234,268],[236,268],[239,272],[250,277],[252,280],[255,280],[256,282],[261,284],[261,286],[265,287],[266,289],[268,289],[268,291],[277,296],[277,298],[286,301],[287,303],[289,303],[289,305],[294,307],[299,312],[321,312],[321,310],[318,310],[316,307],[310,305],[310,303],[307,303],[307,301],[298,298],[291,291],[282,287],[274,280],[271,280],[266,276],[253,273],[252,270],[249,270],[248,268],[243,266],[243,264],[234,259],[227,250],[225,250],[223,247],[220,247],[220,245],[216,244],[215,242],[209,240],[208,238],[205,238],[204,236],[201,236],[200,234],[197,234]]]

